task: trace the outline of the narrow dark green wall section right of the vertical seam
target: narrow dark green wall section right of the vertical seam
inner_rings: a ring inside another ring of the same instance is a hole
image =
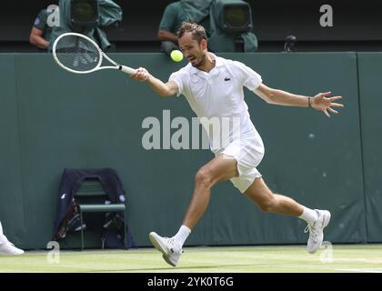
[[[382,241],[382,68],[381,54],[359,53],[359,95],[365,180],[367,241]]]

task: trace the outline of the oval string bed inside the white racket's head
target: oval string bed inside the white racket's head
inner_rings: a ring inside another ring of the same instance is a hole
[[[90,71],[100,63],[100,53],[91,42],[75,35],[62,37],[55,46],[58,61],[80,72]]]

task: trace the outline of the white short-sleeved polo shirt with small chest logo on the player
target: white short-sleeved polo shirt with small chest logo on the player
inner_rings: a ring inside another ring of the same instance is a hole
[[[169,81],[176,82],[177,95],[186,96],[206,129],[211,150],[216,152],[232,142],[237,134],[244,136],[256,131],[244,101],[243,86],[255,90],[262,80],[243,63],[209,54],[216,59],[209,73],[188,64],[170,75]],[[216,127],[216,121],[220,128]]]

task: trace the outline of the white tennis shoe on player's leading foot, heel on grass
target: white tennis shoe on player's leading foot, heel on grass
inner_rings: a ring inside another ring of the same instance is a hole
[[[148,237],[151,244],[163,254],[162,257],[166,263],[176,266],[180,255],[183,253],[182,246],[174,238],[158,236],[155,232],[151,232]]]

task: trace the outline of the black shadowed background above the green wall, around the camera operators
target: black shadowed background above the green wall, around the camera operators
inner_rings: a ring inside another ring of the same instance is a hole
[[[108,31],[117,52],[158,52],[156,34],[166,5],[174,1],[116,0],[123,10],[117,29]],[[298,51],[377,51],[382,47],[382,3],[364,0],[247,0],[259,52],[279,52],[286,36],[297,37]],[[30,29],[42,8],[54,1],[2,1],[0,52],[34,52]],[[334,25],[319,25],[322,5],[333,7]]]

